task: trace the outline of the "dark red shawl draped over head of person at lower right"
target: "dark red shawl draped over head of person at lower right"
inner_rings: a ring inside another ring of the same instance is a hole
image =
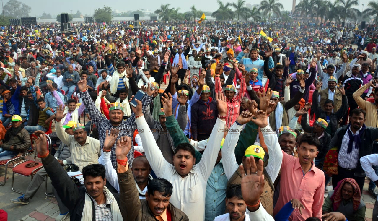
[[[352,202],[353,202],[353,210],[356,211],[361,202],[361,190],[359,189],[359,186],[357,182],[355,181],[355,179],[351,179],[351,178],[342,179],[341,181],[337,183],[337,186],[335,187],[333,195],[331,196],[333,210],[337,211],[337,209],[339,208],[339,205],[341,204],[341,201],[342,201],[341,189],[344,186],[344,184],[350,184],[353,187],[354,191],[352,195]]]

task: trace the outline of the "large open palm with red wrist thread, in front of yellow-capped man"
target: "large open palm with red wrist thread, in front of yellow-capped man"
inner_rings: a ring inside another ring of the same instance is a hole
[[[256,205],[256,207],[248,207],[249,211],[256,211],[259,208],[259,198],[264,190],[264,165],[263,161],[259,159],[259,164],[256,165],[253,156],[246,157],[246,163],[240,165],[239,170],[242,174],[242,196],[246,204]]]

